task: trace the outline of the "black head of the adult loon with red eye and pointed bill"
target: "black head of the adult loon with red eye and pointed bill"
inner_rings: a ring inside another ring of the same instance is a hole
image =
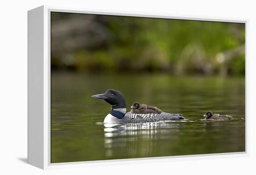
[[[125,97],[120,91],[114,89],[108,89],[104,94],[97,94],[92,97],[105,100],[111,104],[112,109],[126,108]]]

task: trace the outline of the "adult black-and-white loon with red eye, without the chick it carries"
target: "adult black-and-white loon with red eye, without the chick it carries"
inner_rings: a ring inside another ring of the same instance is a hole
[[[120,91],[108,89],[104,94],[92,96],[103,99],[111,104],[111,112],[105,117],[104,123],[146,123],[168,120],[186,120],[181,114],[170,114],[162,112],[161,114],[132,114],[126,113],[125,97]]]

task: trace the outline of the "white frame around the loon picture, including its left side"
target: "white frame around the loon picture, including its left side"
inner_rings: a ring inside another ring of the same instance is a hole
[[[245,23],[246,28],[246,69],[247,59],[247,33],[249,19],[230,19],[202,17],[192,15],[169,15],[159,13],[133,13],[118,11],[88,11],[79,8],[64,8],[56,6],[40,6],[28,11],[28,163],[40,169],[55,169],[63,167],[85,167],[113,164],[131,164],[137,161],[142,162],[162,162],[176,161],[177,159],[202,159],[221,158],[234,156],[248,156],[248,121],[246,119],[246,148],[245,152],[219,153],[190,156],[166,156],[153,158],[135,158],[106,161],[87,162],[50,162],[50,107],[51,107],[51,61],[50,61],[50,13],[88,13],[88,14],[108,14],[136,17],[166,18],[166,19],[193,19],[207,21],[222,21]],[[247,75],[246,75],[247,82]],[[246,88],[247,89],[247,88]],[[247,97],[247,91],[246,91]],[[247,102],[247,101],[246,101]],[[248,104],[247,104],[248,105]],[[246,105],[246,106],[247,106]],[[247,111],[247,109],[246,109]]]

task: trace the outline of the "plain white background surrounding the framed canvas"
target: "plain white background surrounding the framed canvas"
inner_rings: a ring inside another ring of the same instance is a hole
[[[232,17],[249,19],[247,73],[249,87],[249,156],[203,157],[196,160],[134,163],[88,168],[46,170],[27,161],[27,10],[41,5],[79,7],[91,10],[121,10]],[[0,1],[0,174],[196,174],[252,175],[256,173],[256,5],[253,0],[8,0]]]

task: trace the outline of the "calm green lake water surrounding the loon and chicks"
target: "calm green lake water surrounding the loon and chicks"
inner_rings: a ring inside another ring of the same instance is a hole
[[[103,124],[111,106],[94,94],[121,91],[133,102],[180,113],[189,121]],[[211,110],[233,116],[205,121]],[[52,73],[51,162],[78,162],[245,151],[245,78],[166,74]]]

